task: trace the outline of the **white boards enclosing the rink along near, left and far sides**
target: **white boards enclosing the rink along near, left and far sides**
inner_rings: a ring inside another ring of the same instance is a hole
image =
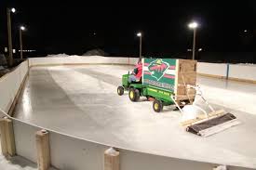
[[[7,116],[19,90],[28,75],[29,68],[33,66],[47,65],[83,65],[83,64],[132,64],[137,59],[133,58],[104,58],[104,57],[67,57],[67,58],[33,58],[23,61],[13,72],[0,78],[0,114]],[[198,63],[197,70],[218,78],[226,78],[226,64]],[[229,78],[256,80],[256,67],[243,65],[229,65]],[[35,124],[27,124],[14,119],[14,136],[17,154],[36,163],[35,132],[44,127]],[[104,150],[115,147],[94,141],[88,141],[79,137],[71,137],[67,134],[47,129],[50,134],[50,160],[51,164],[59,169],[93,169],[103,170]],[[136,150],[119,149],[121,170],[205,170],[212,169],[216,164],[169,158],[154,154],[142,153]],[[230,170],[244,170],[247,168],[229,166]]]

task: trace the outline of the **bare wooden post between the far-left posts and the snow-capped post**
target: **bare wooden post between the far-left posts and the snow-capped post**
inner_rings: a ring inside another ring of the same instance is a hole
[[[47,170],[50,166],[49,133],[46,130],[37,131],[35,138],[38,169]]]

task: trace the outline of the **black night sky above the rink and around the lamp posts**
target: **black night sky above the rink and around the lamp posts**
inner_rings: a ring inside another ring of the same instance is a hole
[[[13,45],[19,46],[19,26],[24,24],[24,48],[34,55],[67,53],[81,55],[101,48],[112,56],[137,56],[141,31],[143,55],[186,56],[192,48],[193,31],[187,24],[196,20],[200,27],[196,47],[202,54],[228,54],[220,59],[255,57],[256,2],[251,1],[169,1],[161,4],[119,1],[106,4],[76,1],[0,0],[0,47],[7,46],[7,9],[12,15]],[[245,32],[247,30],[247,32]],[[232,54],[236,54],[232,56]],[[229,56],[231,55],[231,57]],[[209,55],[210,56],[210,55]],[[199,57],[199,55],[198,55]],[[208,58],[208,57],[206,57]],[[218,59],[217,59],[218,60]]]

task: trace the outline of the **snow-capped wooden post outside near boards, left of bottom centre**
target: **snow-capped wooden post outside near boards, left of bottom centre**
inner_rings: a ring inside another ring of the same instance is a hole
[[[119,151],[113,148],[105,150],[104,152],[104,170],[119,170]]]

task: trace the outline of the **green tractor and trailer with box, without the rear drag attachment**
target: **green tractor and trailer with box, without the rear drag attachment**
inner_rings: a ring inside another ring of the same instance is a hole
[[[183,106],[195,99],[195,90],[187,90],[187,85],[195,85],[196,61],[189,59],[142,59],[142,77],[139,82],[128,83],[128,74],[122,76],[122,85],[117,94],[122,96],[128,91],[131,101],[140,97],[153,98],[156,112],[164,106]]]

